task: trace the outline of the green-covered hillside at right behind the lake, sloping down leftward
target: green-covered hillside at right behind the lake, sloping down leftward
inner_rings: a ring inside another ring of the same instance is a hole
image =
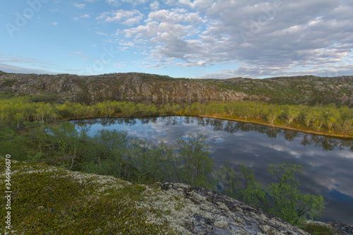
[[[246,95],[268,97],[289,104],[337,103],[352,106],[353,76],[319,78],[294,76],[266,79],[230,78],[207,80],[225,90],[244,92]]]

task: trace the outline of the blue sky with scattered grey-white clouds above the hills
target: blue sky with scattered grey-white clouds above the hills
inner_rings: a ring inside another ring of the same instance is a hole
[[[352,76],[352,0],[0,0],[0,70]]]

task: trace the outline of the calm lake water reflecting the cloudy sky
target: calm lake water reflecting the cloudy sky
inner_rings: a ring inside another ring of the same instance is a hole
[[[251,167],[264,186],[272,181],[269,164],[301,164],[302,193],[321,194],[326,208],[321,221],[353,224],[353,140],[339,140],[296,131],[236,121],[196,117],[159,117],[144,119],[89,119],[90,135],[101,129],[128,131],[130,135],[156,143],[174,143],[179,136],[201,131],[209,139],[215,167],[222,162],[244,163]]]

